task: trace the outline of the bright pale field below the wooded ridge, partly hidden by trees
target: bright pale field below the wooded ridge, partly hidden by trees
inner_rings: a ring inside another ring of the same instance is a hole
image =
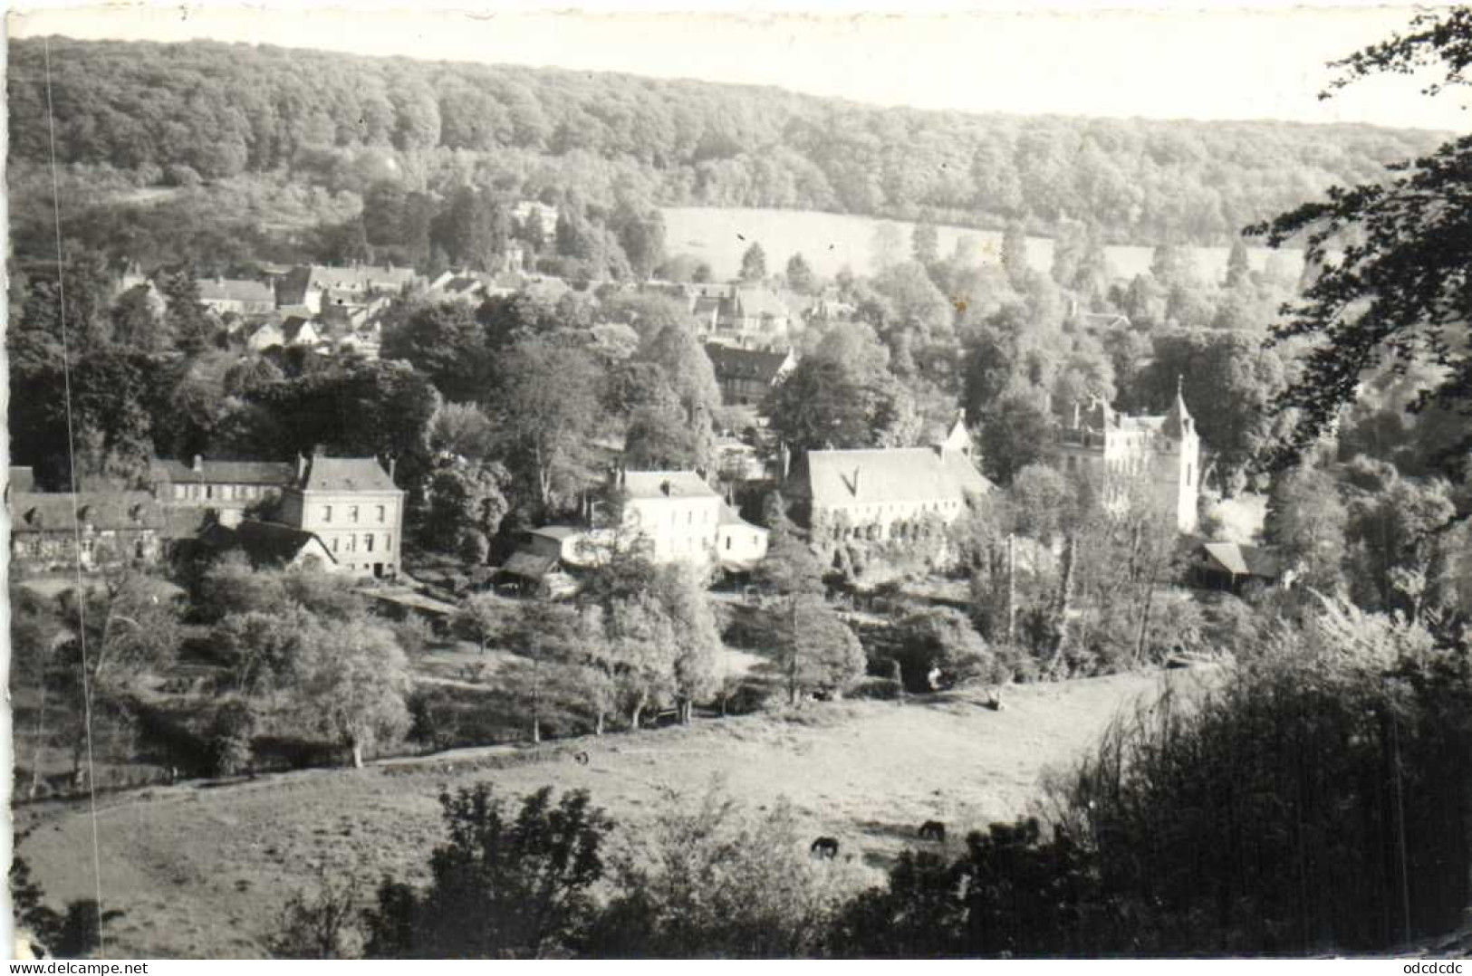
[[[854,274],[874,271],[874,231],[880,224],[899,230],[902,258],[910,256],[913,224],[885,221],[851,213],[821,213],[817,211],[773,211],[755,208],[667,206],[661,208],[665,224],[665,249],[671,255],[690,253],[711,265],[718,281],[735,278],[740,258],[758,241],[767,252],[767,269],[782,271],[788,258],[802,252],[820,275],[835,275],[843,266]],[[958,237],[972,237],[983,259],[999,261],[1001,234],[970,227],[939,227],[941,255],[949,255]],[[1197,271],[1209,280],[1220,280],[1226,272],[1226,247],[1192,247]],[[1151,247],[1114,246],[1105,249],[1110,269],[1122,278],[1133,278],[1150,269]],[[1262,269],[1273,252],[1250,247],[1248,259]],[[1285,250],[1284,258],[1292,274],[1301,268],[1301,255]],[[1027,238],[1027,259],[1032,266],[1047,271],[1052,265],[1052,240]]]

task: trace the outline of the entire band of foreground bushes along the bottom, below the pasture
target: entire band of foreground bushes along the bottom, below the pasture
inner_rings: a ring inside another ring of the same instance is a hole
[[[605,874],[611,824],[586,795],[543,791],[518,817],[484,788],[443,802],[434,882],[380,888],[369,954],[1385,950],[1453,929],[1472,894],[1472,667],[1465,636],[1384,617],[1281,624],[1209,685],[1117,720],[1050,785],[1044,818],[973,832],[954,858],[904,852],[857,897],[786,807],[665,798]],[[311,945],[302,911],[281,929]]]

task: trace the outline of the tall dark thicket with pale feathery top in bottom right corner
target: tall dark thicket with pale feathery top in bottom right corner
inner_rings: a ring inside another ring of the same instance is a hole
[[[1060,786],[1145,954],[1373,950],[1454,927],[1472,864],[1468,645],[1331,609]]]

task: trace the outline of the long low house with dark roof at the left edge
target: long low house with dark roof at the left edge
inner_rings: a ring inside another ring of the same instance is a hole
[[[152,564],[165,518],[147,492],[9,492],[10,565],[28,573]]]

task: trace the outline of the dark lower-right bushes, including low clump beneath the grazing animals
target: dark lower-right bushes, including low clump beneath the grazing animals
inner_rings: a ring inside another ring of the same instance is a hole
[[[1326,609],[1223,680],[1126,715],[1036,821],[905,854],[845,911],[852,955],[1370,951],[1468,905],[1465,639]]]

